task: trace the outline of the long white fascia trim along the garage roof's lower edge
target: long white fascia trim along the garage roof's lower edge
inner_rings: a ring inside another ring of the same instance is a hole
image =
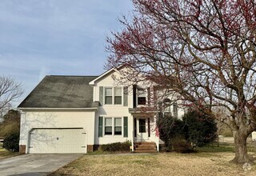
[[[18,108],[18,110],[22,111],[44,111],[44,110],[49,110],[49,111],[96,111],[98,110],[98,107],[92,107],[92,108],[33,108],[33,107],[21,107]]]

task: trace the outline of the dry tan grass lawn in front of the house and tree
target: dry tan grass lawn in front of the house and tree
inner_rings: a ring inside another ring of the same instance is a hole
[[[255,145],[255,143],[254,143]],[[250,154],[256,146],[249,147]],[[208,146],[196,153],[177,154],[85,154],[50,175],[245,175],[255,176],[256,165],[243,171],[229,161],[233,145]]]

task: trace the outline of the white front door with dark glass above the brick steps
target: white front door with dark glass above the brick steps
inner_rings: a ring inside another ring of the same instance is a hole
[[[135,139],[137,142],[143,142],[143,141],[147,141],[149,139],[148,121],[149,121],[149,118],[135,118],[134,119],[134,122],[136,123],[135,124],[135,126],[136,126]]]

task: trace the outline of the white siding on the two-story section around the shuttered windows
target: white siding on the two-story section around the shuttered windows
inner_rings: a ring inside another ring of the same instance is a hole
[[[99,87],[114,87],[114,86],[121,86],[124,85],[118,85],[119,81],[115,81],[115,79],[120,78],[120,75],[118,72],[112,71],[109,74],[106,74],[102,78],[98,79],[96,82],[94,82],[94,101],[99,101]],[[122,80],[121,82],[125,82]],[[133,108],[133,90],[132,85],[129,82],[125,83],[128,85],[128,106],[122,106],[122,105],[102,105],[98,108],[98,111],[96,112],[95,116],[95,136],[94,136],[94,143],[97,145],[106,144],[106,143],[112,143],[112,142],[125,142],[127,140],[132,141],[133,138],[133,131],[134,131],[134,117],[132,114],[129,113],[129,108]],[[152,103],[154,101],[154,92],[152,87],[155,86],[152,82],[139,82],[138,86],[147,88],[151,86],[151,99],[150,102]],[[146,95],[146,98],[148,96]],[[137,102],[137,100],[136,100]],[[178,108],[178,117],[181,118],[184,114],[184,111],[182,109]],[[102,126],[102,137],[98,138],[98,117],[103,117],[103,126]],[[104,135],[104,118],[122,118],[122,117],[128,117],[128,138],[123,138],[122,136],[118,135]],[[139,115],[136,115],[136,118],[139,118]],[[155,119],[150,118],[150,141],[157,142],[158,137],[155,136]]]

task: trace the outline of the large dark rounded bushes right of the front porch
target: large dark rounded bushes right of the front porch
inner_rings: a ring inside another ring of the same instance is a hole
[[[186,113],[182,120],[158,115],[158,129],[166,151],[190,152],[194,147],[206,146],[217,138],[214,119],[195,110]]]

